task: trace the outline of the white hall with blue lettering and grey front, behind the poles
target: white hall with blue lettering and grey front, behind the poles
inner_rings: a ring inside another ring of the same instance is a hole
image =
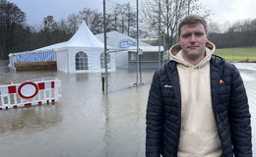
[[[103,42],[103,33],[96,34],[96,37]],[[116,54],[116,67],[128,68],[134,70],[137,68],[137,39],[120,33],[110,31],[106,33],[106,43]],[[139,48],[142,50],[141,68],[158,69],[159,68],[159,46],[152,46],[139,41]],[[163,48],[160,46],[162,56]],[[110,50],[111,52],[111,50]]]

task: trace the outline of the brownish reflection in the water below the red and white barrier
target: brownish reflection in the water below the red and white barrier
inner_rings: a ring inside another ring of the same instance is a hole
[[[58,104],[31,108],[3,110],[0,114],[0,133],[21,130],[44,130],[61,123],[63,116]]]

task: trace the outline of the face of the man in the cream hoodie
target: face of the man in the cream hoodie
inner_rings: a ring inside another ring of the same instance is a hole
[[[196,61],[203,59],[207,40],[208,35],[202,24],[181,26],[179,44],[186,60]]]

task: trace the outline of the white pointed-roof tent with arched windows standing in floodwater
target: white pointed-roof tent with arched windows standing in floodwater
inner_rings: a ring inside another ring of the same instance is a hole
[[[32,53],[53,50],[57,70],[66,73],[104,72],[103,47],[103,43],[83,22],[70,40],[36,49]],[[109,53],[107,56],[107,68],[109,72],[115,71],[115,53]]]

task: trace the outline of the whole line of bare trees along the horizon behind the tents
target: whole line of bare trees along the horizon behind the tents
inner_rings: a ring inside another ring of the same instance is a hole
[[[168,49],[177,42],[177,25],[189,14],[199,14],[205,18],[211,15],[204,10],[198,0],[145,1],[140,7],[140,37],[157,39]],[[85,8],[78,14],[71,14],[59,22],[53,16],[42,19],[39,26],[26,23],[26,13],[8,0],[0,0],[0,59],[8,59],[9,53],[34,50],[50,44],[67,41],[76,32],[82,21],[86,21],[94,34],[103,31],[103,14]],[[159,31],[160,26],[160,31]],[[135,8],[130,3],[115,3],[106,13],[107,31],[116,30],[136,37],[137,20]],[[222,29],[224,29],[222,31]],[[210,39],[219,48],[255,46],[256,20],[238,22],[222,28],[210,25]]]

